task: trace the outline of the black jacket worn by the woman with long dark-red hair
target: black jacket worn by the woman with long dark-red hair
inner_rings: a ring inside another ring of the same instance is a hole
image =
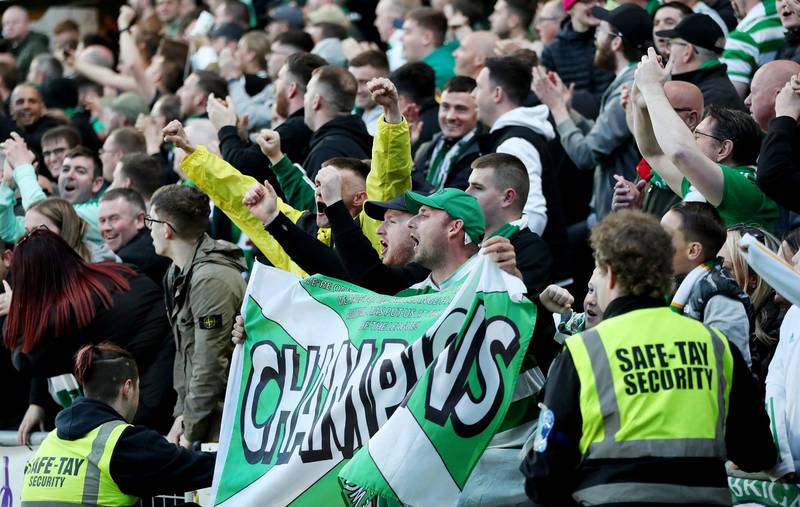
[[[59,337],[54,336],[50,327],[30,353],[23,354],[19,348],[14,352],[14,366],[32,377],[31,403],[47,403],[50,398],[47,377],[72,373],[73,358],[83,345],[110,341],[130,352],[139,367],[141,394],[135,422],[154,429],[165,426],[169,429],[175,403],[172,390],[175,342],[164,296],[144,275],[136,274],[128,280],[130,290],[113,291],[110,308],[96,300],[95,316],[88,326]]]

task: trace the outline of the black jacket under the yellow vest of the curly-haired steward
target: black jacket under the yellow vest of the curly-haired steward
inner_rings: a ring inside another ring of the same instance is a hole
[[[663,304],[663,301],[642,297],[620,297],[608,305],[604,318],[610,319]],[[734,346],[730,350],[733,355],[733,381],[725,425],[728,458],[742,470],[764,470],[775,463],[769,418],[739,350]],[[564,349],[553,362],[545,387],[544,404],[555,416],[546,450],[531,451],[521,467],[527,476],[526,492],[537,504],[575,505],[571,495],[576,486],[580,484],[586,487],[598,482],[663,482],[727,487],[725,464],[717,459],[653,457],[647,460],[582,462],[578,448],[583,427],[579,398],[578,373],[569,350]]]

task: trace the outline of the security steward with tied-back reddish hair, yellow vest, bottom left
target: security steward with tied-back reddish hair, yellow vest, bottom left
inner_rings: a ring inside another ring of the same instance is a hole
[[[23,507],[127,506],[211,485],[214,454],[129,424],[139,372],[127,351],[108,342],[83,347],[75,378],[85,397],[56,416],[56,429],[26,465]]]

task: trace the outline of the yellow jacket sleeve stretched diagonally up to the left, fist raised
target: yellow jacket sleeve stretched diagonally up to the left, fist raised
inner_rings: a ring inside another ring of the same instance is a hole
[[[261,250],[276,268],[308,276],[300,267],[292,262],[289,255],[275,241],[263,224],[254,217],[243,204],[242,199],[247,190],[258,181],[245,176],[220,157],[209,153],[204,146],[198,146],[194,153],[181,161],[181,170],[187,178],[197,185],[214,205],[220,208],[242,230],[253,244]],[[278,210],[296,222],[303,214],[278,199]]]

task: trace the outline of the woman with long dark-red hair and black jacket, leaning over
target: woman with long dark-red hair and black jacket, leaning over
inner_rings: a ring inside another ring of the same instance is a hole
[[[41,426],[48,390],[62,405],[71,403],[78,392],[71,377],[75,353],[103,341],[124,347],[139,364],[141,403],[135,422],[169,428],[175,347],[161,292],[152,280],[124,264],[87,263],[44,227],[17,242],[11,279],[4,341],[14,366],[32,376],[20,442]]]

